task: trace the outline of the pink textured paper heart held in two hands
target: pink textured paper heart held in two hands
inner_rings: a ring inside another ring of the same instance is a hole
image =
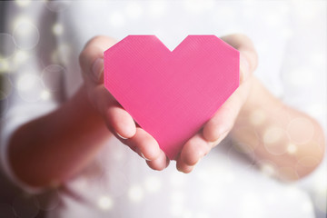
[[[128,35],[104,52],[104,85],[175,159],[239,86],[239,52],[215,35],[189,35],[173,52]]]

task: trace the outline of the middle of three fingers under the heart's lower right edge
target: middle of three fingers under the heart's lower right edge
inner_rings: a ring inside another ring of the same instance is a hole
[[[195,165],[210,150],[211,145],[205,141],[202,134],[195,134],[183,145],[181,161],[186,165]]]

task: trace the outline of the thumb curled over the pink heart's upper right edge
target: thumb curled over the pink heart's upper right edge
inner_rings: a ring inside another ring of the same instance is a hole
[[[221,39],[240,52],[240,83],[243,84],[243,81],[253,74],[258,64],[258,54],[253,42],[248,36],[242,34],[225,35]]]

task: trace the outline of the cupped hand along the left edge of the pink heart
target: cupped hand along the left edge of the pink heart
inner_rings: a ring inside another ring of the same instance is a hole
[[[116,41],[107,36],[95,36],[80,54],[86,91],[94,108],[104,118],[108,129],[135,153],[143,157],[154,170],[163,170],[169,159],[154,137],[134,123],[134,119],[104,87],[104,51]]]

